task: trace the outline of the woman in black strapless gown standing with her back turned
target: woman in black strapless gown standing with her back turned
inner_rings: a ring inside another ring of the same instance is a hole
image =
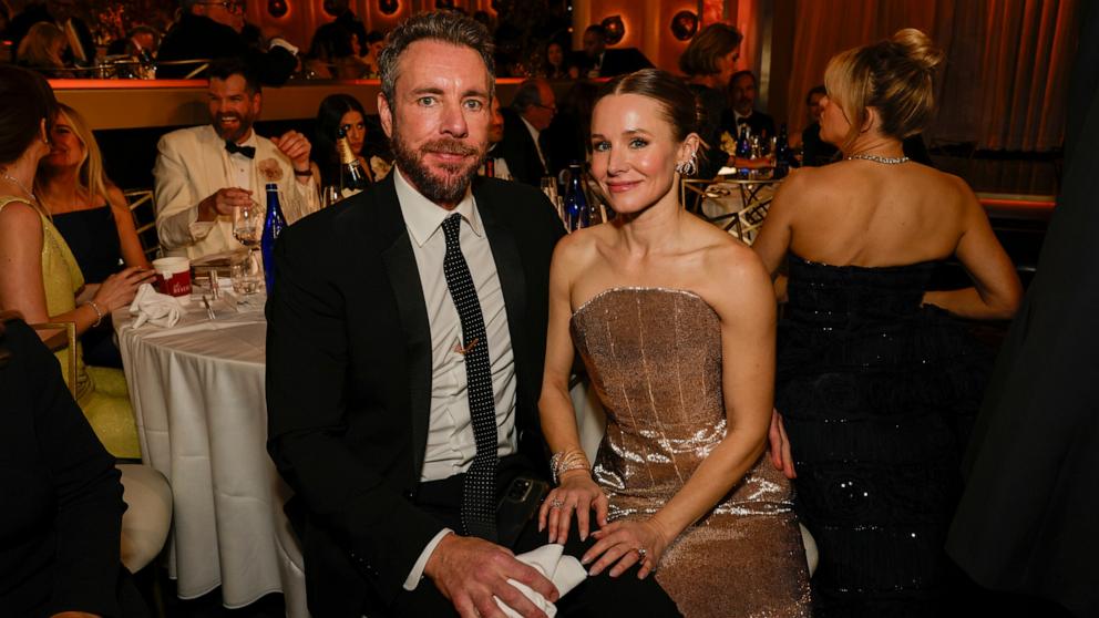
[[[776,405],[820,547],[819,616],[948,615],[958,423],[987,373],[952,315],[1007,319],[1019,302],[973,192],[903,156],[932,117],[941,62],[911,29],[833,58],[821,137],[844,161],[792,174],[754,245],[772,274],[789,255]],[[925,291],[952,256],[973,286]]]

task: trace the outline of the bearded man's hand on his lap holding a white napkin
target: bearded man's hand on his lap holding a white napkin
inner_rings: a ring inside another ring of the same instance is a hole
[[[550,602],[558,598],[557,588],[534,567],[515,559],[506,548],[476,537],[444,536],[423,573],[462,618],[504,618],[493,597],[524,618],[546,618],[509,579],[526,584]]]

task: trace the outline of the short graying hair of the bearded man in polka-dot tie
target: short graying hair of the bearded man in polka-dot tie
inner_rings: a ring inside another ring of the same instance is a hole
[[[412,16],[401,22],[386,39],[386,47],[378,54],[378,71],[381,74],[381,93],[393,105],[397,89],[398,63],[401,54],[417,41],[439,41],[452,45],[470,48],[481,55],[489,73],[489,96],[495,94],[496,65],[493,62],[492,37],[485,27],[454,11],[433,11]]]

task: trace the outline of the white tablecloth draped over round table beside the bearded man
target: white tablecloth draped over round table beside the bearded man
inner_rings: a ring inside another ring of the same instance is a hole
[[[263,311],[192,301],[178,325],[114,313],[142,459],[172,484],[168,573],[182,598],[222,587],[226,607],[281,591],[307,617],[301,554],[283,514],[290,491],[267,455]]]

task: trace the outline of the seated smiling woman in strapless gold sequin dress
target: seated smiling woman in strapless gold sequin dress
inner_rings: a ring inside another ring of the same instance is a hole
[[[791,487],[763,451],[774,298],[748,247],[678,204],[697,166],[695,99],[657,70],[605,86],[592,171],[618,216],[563,239],[551,270],[542,426],[559,482],[541,524],[575,515],[593,574],[657,581],[688,617],[808,616]],[[607,411],[594,468],[568,377],[579,351]]]

